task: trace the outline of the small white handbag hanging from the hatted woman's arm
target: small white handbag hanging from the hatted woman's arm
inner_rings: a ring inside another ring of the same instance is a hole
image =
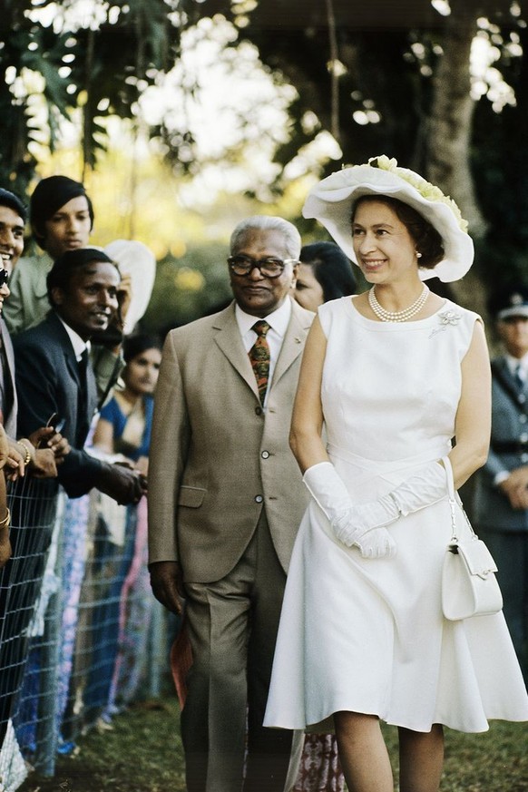
[[[469,619],[497,613],[503,607],[503,596],[495,577],[497,566],[491,552],[479,539],[462,508],[458,514],[470,535],[461,538],[456,527],[456,499],[453,468],[444,457],[447,473],[449,506],[451,509],[452,537],[445,552],[442,570],[442,610],[450,621]],[[460,504],[461,505],[461,504]],[[467,531],[464,531],[464,534]]]

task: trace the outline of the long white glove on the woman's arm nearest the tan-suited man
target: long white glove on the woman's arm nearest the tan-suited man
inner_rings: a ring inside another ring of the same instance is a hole
[[[389,498],[390,505],[395,512],[387,517],[383,504],[372,501],[369,504],[356,506],[352,503],[347,487],[330,462],[320,462],[308,467],[303,476],[303,482],[308,487],[309,493],[315,498],[328,520],[337,539],[351,547],[356,544],[365,558],[381,558],[382,556],[396,555],[396,544],[385,530],[378,526],[392,523],[397,520],[399,513],[396,504]],[[388,496],[386,496],[388,497]],[[357,510],[367,507],[373,519],[378,519],[376,525],[361,524]],[[374,514],[376,513],[376,518]],[[371,529],[376,527],[376,532]],[[365,534],[369,534],[368,537]]]

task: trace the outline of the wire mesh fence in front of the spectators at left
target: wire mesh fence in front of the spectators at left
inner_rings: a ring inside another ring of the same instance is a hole
[[[83,731],[161,695],[171,622],[147,572],[146,500],[70,500],[9,487],[13,556],[0,571],[0,792],[53,776]]]

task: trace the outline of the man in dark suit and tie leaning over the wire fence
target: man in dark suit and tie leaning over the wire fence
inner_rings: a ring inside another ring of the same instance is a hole
[[[70,497],[93,487],[120,504],[138,503],[144,477],[121,464],[89,455],[83,445],[97,406],[90,338],[103,331],[117,310],[119,272],[103,250],[69,250],[54,263],[48,278],[51,313],[34,328],[15,336],[18,430],[29,434],[64,422],[71,450],[58,467],[58,482]]]

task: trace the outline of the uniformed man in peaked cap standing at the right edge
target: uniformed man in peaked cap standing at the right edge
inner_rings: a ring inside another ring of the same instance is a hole
[[[504,344],[492,361],[492,440],[474,519],[498,567],[504,616],[528,681],[528,288],[490,300]]]

